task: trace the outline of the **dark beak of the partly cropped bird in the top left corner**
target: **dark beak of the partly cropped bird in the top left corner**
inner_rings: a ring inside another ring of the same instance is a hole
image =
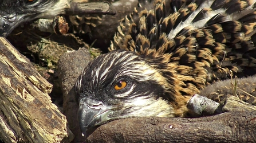
[[[11,31],[23,22],[23,15],[0,15],[0,36],[8,36]]]

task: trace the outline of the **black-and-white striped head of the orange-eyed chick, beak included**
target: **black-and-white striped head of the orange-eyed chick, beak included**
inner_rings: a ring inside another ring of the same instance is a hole
[[[111,120],[175,117],[176,97],[171,85],[175,82],[155,67],[168,66],[168,61],[153,60],[149,62],[135,52],[117,50],[88,64],[75,85],[80,97],[78,122],[82,136],[87,129]]]

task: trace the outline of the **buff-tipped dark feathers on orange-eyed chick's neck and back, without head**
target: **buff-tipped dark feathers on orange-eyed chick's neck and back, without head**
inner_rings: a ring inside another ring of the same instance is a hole
[[[255,55],[250,54],[256,52],[255,13],[247,14],[254,2],[207,2],[212,3],[180,1],[175,13],[170,8],[173,1],[156,1],[155,9],[139,14],[135,11],[120,22],[109,48],[135,51],[149,63],[166,63],[152,66],[166,79],[174,80],[170,81],[170,89],[175,91],[176,103],[172,104],[177,110],[207,84],[230,78],[230,71],[239,77],[256,73],[249,72],[256,71]],[[222,11],[216,13],[219,9]],[[140,21],[135,23],[135,17]],[[187,19],[191,22],[183,26]],[[194,23],[200,21],[204,24],[197,27],[200,23]]]

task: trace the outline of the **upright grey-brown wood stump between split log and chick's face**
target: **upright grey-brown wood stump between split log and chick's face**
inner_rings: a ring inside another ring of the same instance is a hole
[[[73,142],[83,142],[77,120],[77,97],[74,91],[74,83],[82,70],[90,61],[89,51],[80,48],[78,51],[65,53],[58,61],[58,72],[63,93],[63,111],[68,120],[69,128],[74,134]]]

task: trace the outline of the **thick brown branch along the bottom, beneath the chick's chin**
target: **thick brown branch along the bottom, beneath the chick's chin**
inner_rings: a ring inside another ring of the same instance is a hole
[[[87,142],[255,142],[256,111],[195,118],[135,118],[101,125]]]

